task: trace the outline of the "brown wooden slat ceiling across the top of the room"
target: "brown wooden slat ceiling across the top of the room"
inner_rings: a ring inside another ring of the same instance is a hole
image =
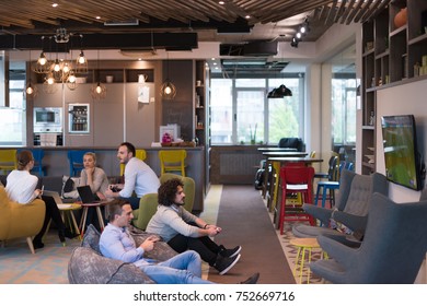
[[[365,22],[391,1],[226,0],[219,4],[218,0],[58,0],[59,5],[53,8],[53,1],[46,0],[1,0],[0,34],[47,34],[60,26],[80,33],[231,30],[234,25],[275,25],[299,14],[310,14],[311,23],[327,28],[333,23]],[[128,20],[138,20],[139,25],[104,25]]]

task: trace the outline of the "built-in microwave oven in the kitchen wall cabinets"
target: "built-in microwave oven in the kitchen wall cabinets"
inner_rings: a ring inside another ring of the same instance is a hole
[[[34,107],[34,132],[61,132],[61,107]]]

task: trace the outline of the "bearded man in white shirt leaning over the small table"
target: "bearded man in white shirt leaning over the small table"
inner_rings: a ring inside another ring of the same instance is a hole
[[[125,185],[120,191],[107,190],[107,198],[126,199],[132,210],[139,209],[139,200],[147,193],[157,193],[160,187],[160,180],[155,173],[141,160],[135,157],[136,150],[134,144],[123,142],[118,146],[117,158],[120,164],[125,164]],[[135,191],[136,197],[132,195]]]

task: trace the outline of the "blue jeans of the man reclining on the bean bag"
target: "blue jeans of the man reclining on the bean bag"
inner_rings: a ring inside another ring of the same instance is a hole
[[[212,284],[201,279],[200,256],[193,250],[158,264],[140,266],[139,269],[158,284]]]

